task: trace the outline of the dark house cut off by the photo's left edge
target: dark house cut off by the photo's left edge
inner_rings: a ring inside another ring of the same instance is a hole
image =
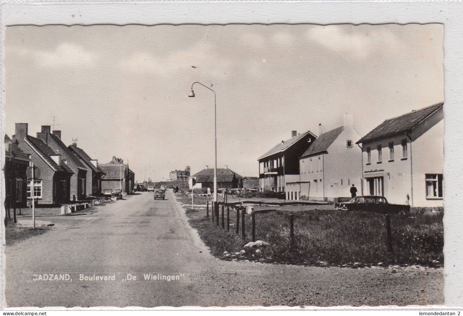
[[[18,141],[5,135],[5,209],[26,206],[26,170],[30,162],[29,156],[19,148]]]

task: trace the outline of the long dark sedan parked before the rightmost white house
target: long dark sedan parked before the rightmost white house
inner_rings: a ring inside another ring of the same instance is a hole
[[[405,214],[410,212],[410,205],[389,204],[384,196],[356,196],[349,202],[336,203],[334,209],[382,214]]]

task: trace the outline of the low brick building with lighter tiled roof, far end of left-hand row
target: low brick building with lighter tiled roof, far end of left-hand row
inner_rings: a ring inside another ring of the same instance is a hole
[[[124,160],[113,156],[109,163],[98,166],[105,173],[101,177],[101,190],[120,189],[126,193],[133,190],[135,173],[129,169],[129,164],[124,164]]]

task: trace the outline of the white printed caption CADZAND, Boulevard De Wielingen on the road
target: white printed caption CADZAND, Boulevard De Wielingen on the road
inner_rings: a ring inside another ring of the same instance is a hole
[[[104,281],[179,281],[184,273],[40,273],[33,274],[33,281],[64,281],[64,282],[104,282]]]

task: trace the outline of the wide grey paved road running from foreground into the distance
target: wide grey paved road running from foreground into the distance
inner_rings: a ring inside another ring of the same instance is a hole
[[[189,227],[170,191],[166,198],[153,201],[152,193],[142,193],[100,206],[89,215],[41,217],[55,223],[52,231],[6,247],[7,305],[443,303],[442,270],[392,273],[215,259]],[[50,274],[69,275],[69,280],[34,280]],[[137,279],[127,280],[128,274]],[[150,274],[157,279],[145,280],[144,275]],[[80,275],[114,276],[114,280],[80,280]]]

